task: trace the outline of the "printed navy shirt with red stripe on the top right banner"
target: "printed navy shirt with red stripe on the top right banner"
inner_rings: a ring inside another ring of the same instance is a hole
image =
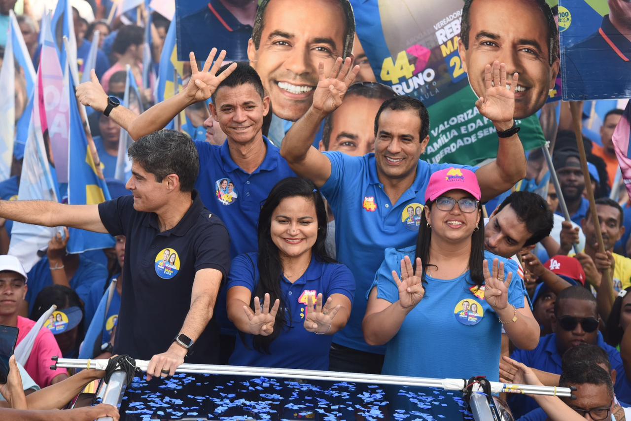
[[[562,55],[563,91],[569,100],[631,97],[631,41],[603,17],[598,32]]]

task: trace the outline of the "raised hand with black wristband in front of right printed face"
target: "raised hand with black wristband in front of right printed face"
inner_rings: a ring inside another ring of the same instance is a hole
[[[487,64],[484,69],[485,92],[480,95],[475,105],[480,114],[487,117],[493,124],[504,124],[502,130],[510,129],[513,114],[515,114],[515,90],[519,74],[515,73],[507,88],[506,65],[495,60],[493,66]]]

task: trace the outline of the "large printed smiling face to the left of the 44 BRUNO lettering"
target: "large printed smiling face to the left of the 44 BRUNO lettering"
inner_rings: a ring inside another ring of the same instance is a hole
[[[348,25],[339,0],[271,0],[264,11],[259,45],[248,44],[250,64],[261,76],[272,110],[297,121],[309,109],[318,83],[342,56]]]

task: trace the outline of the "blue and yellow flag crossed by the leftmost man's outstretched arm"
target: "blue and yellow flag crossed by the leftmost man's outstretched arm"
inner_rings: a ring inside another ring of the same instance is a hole
[[[98,205],[110,200],[110,193],[105,180],[98,177],[97,169],[90,150],[88,137],[83,130],[79,109],[74,99],[74,86],[69,84],[70,96],[70,150],[68,164],[68,203],[69,205]],[[70,228],[68,241],[69,253],[81,253],[87,250],[114,247],[114,238],[109,234],[100,234]]]

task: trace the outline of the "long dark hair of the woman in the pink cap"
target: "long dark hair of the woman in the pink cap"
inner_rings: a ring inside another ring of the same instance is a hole
[[[429,206],[432,210],[434,201],[428,200],[425,206]],[[455,205],[454,205],[455,206]],[[478,211],[482,209],[478,203]],[[425,273],[428,266],[436,266],[429,264],[430,260],[430,244],[432,242],[432,228],[427,226],[427,216],[425,211],[421,215],[420,227],[418,228],[418,237],[416,238],[416,257],[421,258],[423,264],[422,282],[426,282]],[[480,216],[478,222],[478,230],[473,231],[471,235],[471,254],[469,254],[469,272],[471,279],[480,287],[484,283],[484,273],[482,271],[482,261],[484,260],[484,218]],[[416,259],[414,262],[414,270],[416,270]]]

